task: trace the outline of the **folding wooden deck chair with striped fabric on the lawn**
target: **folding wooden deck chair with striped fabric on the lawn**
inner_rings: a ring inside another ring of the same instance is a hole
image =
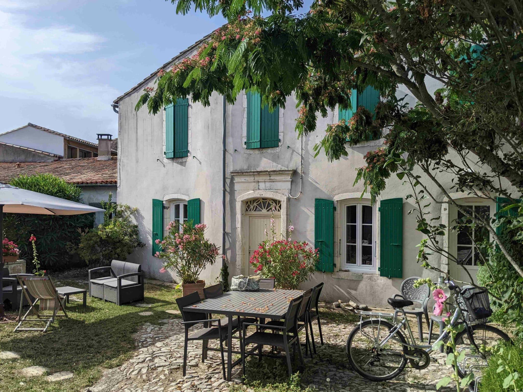
[[[56,286],[50,276],[18,276],[18,282],[22,287],[22,292],[29,302],[29,310],[26,312],[24,317],[22,315],[22,301],[20,300],[20,310],[18,311],[18,325],[15,327],[16,331],[42,331],[46,332],[49,326],[54,322],[55,317],[67,317],[65,312],[65,297],[58,294]],[[29,294],[35,299],[35,302],[31,302]],[[37,310],[35,305],[40,301],[39,309]],[[41,315],[39,312],[44,310],[52,310],[52,315]],[[62,310],[63,315],[59,315],[58,312]],[[28,319],[27,316],[32,311],[35,314],[36,319]],[[26,321],[42,321],[46,323],[44,328],[20,328],[23,322]]]

